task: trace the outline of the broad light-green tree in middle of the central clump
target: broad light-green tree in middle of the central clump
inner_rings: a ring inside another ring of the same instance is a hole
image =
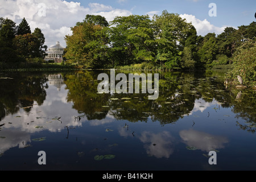
[[[116,65],[154,60],[154,30],[148,15],[117,16],[111,23],[110,42]]]

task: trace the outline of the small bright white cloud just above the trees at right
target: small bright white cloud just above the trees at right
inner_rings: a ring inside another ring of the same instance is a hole
[[[217,27],[213,24],[210,24],[210,22],[207,19],[200,20],[197,19],[194,15],[188,15],[188,14],[181,14],[181,18],[186,19],[188,23],[192,23],[193,26],[196,28],[197,35],[207,35],[208,33],[215,33],[216,35],[221,34],[224,32],[224,29],[226,26]]]

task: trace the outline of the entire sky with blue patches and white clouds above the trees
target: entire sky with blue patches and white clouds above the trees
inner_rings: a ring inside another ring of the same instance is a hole
[[[212,6],[211,3],[214,3]],[[210,6],[209,6],[210,5]],[[191,22],[197,35],[221,34],[226,27],[249,25],[255,21],[255,0],[0,0],[0,16],[18,25],[26,18],[33,32],[40,28],[48,47],[57,41],[65,47],[65,35],[84,20],[86,14],[101,15],[109,22],[115,16],[179,14]]]

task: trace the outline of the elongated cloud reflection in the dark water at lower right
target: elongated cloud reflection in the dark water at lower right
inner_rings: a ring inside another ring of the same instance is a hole
[[[185,144],[206,152],[224,148],[224,144],[229,142],[226,137],[211,135],[193,129],[181,130],[179,134]]]

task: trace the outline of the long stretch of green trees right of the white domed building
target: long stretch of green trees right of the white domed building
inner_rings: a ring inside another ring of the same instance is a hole
[[[117,16],[107,22],[86,15],[66,35],[65,59],[81,68],[117,68],[149,64],[163,69],[207,69],[233,63],[234,53],[255,40],[256,24],[226,27],[220,35],[197,35],[196,28],[178,14]]]

